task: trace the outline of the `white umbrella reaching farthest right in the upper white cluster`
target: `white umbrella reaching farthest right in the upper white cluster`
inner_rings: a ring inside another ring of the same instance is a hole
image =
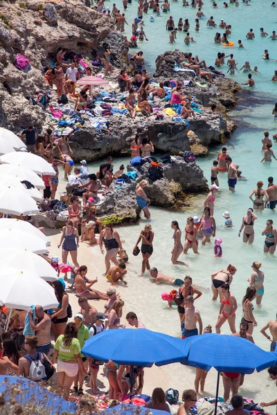
[[[56,174],[48,161],[36,154],[26,153],[26,151],[15,151],[15,153],[5,154],[0,157],[0,161],[3,164],[26,167],[37,174],[50,174],[51,176]]]

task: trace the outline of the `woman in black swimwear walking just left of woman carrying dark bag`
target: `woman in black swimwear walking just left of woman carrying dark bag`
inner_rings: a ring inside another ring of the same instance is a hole
[[[106,266],[106,274],[109,272],[109,268],[111,268],[111,262],[114,262],[114,265],[119,265],[118,260],[116,259],[116,254],[118,252],[118,248],[122,250],[122,245],[120,242],[120,237],[116,230],[113,230],[111,223],[107,223],[105,229],[100,232],[100,239],[99,239],[99,246],[102,254],[105,254],[105,251],[102,249],[103,242],[105,244],[105,248],[107,253],[105,255],[105,266]]]

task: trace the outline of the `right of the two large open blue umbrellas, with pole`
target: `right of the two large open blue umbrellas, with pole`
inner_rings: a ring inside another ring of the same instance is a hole
[[[217,412],[220,372],[252,374],[276,365],[276,353],[264,351],[249,340],[234,335],[206,333],[183,340],[184,356],[182,365],[217,370],[215,414]]]

